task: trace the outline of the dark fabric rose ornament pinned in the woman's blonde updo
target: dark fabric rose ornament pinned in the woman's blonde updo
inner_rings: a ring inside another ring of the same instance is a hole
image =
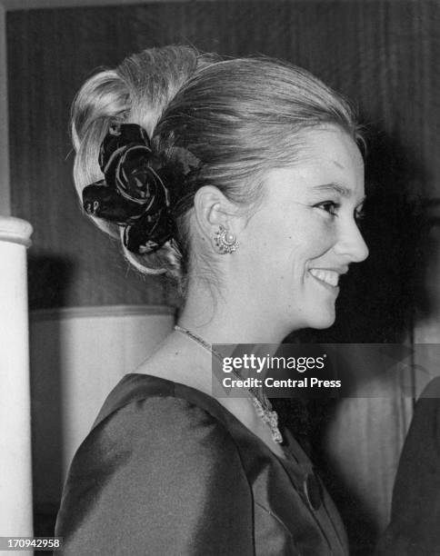
[[[170,194],[161,177],[164,163],[153,154],[145,129],[114,124],[101,144],[104,180],[83,190],[87,214],[125,226],[124,244],[133,253],[152,253],[174,234]]]

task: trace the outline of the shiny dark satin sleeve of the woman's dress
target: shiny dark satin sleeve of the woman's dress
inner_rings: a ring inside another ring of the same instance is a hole
[[[76,453],[55,534],[66,556],[254,554],[252,491],[234,440],[185,400],[129,403]]]

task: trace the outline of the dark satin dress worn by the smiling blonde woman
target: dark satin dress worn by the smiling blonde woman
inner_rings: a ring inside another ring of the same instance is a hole
[[[332,501],[320,486],[312,508],[320,483],[285,435],[284,460],[205,393],[125,375],[72,462],[55,529],[62,553],[348,554]]]

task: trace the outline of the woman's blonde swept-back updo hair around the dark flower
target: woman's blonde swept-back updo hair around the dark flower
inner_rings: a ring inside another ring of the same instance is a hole
[[[221,60],[189,46],[150,48],[116,69],[89,78],[75,97],[72,137],[77,193],[103,178],[100,145],[111,124],[139,124],[155,152],[184,148],[201,161],[179,184],[176,236],[155,253],[125,257],[143,273],[167,273],[185,289],[194,268],[188,213],[204,184],[251,208],[262,198],[265,173],[295,164],[301,132],[335,124],[358,141],[352,107],[303,69],[266,57]],[[123,228],[94,218],[106,233]]]

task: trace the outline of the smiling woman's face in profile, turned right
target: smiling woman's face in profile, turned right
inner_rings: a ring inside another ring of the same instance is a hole
[[[304,137],[300,162],[266,175],[265,199],[238,238],[251,295],[285,334],[333,324],[339,276],[368,255],[356,223],[365,193],[355,142],[335,126]]]

